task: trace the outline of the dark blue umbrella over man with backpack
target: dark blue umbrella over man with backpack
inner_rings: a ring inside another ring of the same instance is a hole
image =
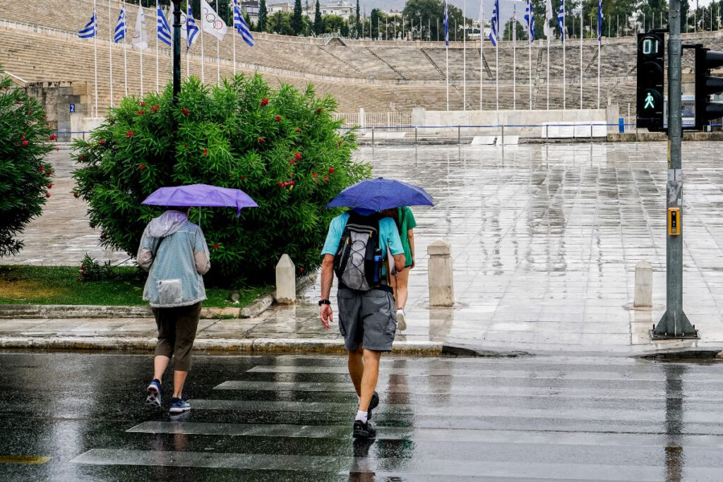
[[[401,206],[434,206],[432,196],[421,187],[395,179],[367,179],[341,191],[327,207],[363,207],[382,211]]]

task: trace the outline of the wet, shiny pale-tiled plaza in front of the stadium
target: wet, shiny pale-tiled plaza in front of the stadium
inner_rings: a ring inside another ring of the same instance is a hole
[[[723,143],[683,146],[684,303],[701,341],[723,345]],[[62,154],[62,152],[60,153]],[[650,346],[664,311],[666,144],[605,143],[364,147],[375,176],[423,186],[435,207],[414,208],[417,267],[411,273],[406,340],[484,348],[604,350]],[[59,162],[57,173],[69,172]],[[27,230],[27,249],[7,263],[75,264],[95,246],[81,202],[56,179],[45,214]],[[427,245],[452,245],[453,309],[430,309]],[[635,265],[654,268],[654,308],[631,310]],[[267,335],[338,337],[317,321],[318,285],[301,303],[266,314]]]

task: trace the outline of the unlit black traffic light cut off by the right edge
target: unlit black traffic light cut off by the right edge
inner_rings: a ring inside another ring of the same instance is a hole
[[[696,129],[703,129],[712,119],[723,117],[723,103],[711,102],[709,96],[723,92],[723,77],[710,77],[711,69],[723,66],[723,52],[696,46]]]

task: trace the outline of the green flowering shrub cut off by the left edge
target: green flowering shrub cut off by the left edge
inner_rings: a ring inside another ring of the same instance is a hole
[[[0,257],[20,252],[16,236],[40,215],[53,186],[53,170],[43,161],[53,150],[43,106],[14,88],[3,72],[0,68]]]

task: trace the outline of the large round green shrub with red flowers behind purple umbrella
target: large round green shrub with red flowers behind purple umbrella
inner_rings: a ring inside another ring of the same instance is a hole
[[[140,205],[162,186],[213,184],[242,189],[259,205],[204,208],[201,227],[215,281],[264,283],[281,254],[313,269],[328,223],[325,205],[341,189],[369,176],[351,158],[354,132],[340,136],[333,98],[317,98],[260,76],[227,79],[221,87],[191,78],[172,106],[171,87],[142,100],[126,98],[93,132],[76,141],[77,194],[89,205],[100,243],[134,256],[143,228],[160,214]],[[178,134],[174,135],[174,125]],[[191,219],[199,220],[192,210]]]

